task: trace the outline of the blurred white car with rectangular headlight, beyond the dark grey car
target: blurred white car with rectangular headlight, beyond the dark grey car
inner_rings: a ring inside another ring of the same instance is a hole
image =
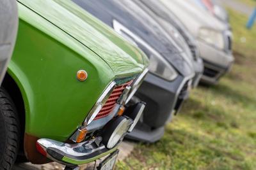
[[[204,10],[195,1],[161,0],[196,38],[204,60],[202,81],[216,84],[234,62],[232,32],[227,24]]]

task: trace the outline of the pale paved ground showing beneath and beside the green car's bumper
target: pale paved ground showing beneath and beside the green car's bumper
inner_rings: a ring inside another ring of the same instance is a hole
[[[127,157],[134,148],[134,143],[131,142],[123,142],[120,145],[120,152],[118,155],[118,160],[123,160],[125,157]],[[81,167],[82,169],[93,169],[94,164],[90,164],[89,167],[84,166]],[[30,163],[26,164],[16,164],[12,170],[61,170],[64,169],[64,167],[61,164],[58,164],[56,162],[50,163],[50,164],[44,164],[44,165],[33,165]]]

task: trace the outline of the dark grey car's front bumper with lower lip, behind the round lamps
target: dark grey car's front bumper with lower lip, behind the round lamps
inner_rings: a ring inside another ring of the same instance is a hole
[[[179,111],[183,101],[188,98],[191,81],[192,78],[182,76],[174,81],[166,81],[154,74],[147,74],[136,93],[136,97],[147,103],[147,106],[140,122],[126,138],[149,143],[159,140],[173,111]]]

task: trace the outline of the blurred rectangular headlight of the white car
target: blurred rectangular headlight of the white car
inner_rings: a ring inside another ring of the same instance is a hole
[[[225,48],[223,34],[212,29],[201,28],[198,32],[198,38],[209,43],[209,45],[216,46],[223,50]]]

